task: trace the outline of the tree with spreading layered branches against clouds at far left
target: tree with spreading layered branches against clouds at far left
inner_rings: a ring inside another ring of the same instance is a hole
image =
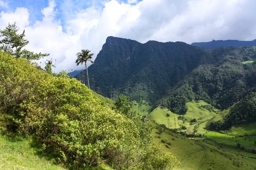
[[[32,59],[40,59],[41,57],[49,56],[49,54],[34,53],[32,51],[28,51],[26,49],[22,49],[25,47],[29,41],[25,40],[25,30],[23,30],[22,34],[17,34],[19,28],[16,26],[16,23],[9,24],[4,30],[0,30],[0,50],[15,58],[25,58],[27,60]]]

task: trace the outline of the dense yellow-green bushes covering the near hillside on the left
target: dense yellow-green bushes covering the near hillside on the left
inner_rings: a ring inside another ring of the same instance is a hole
[[[76,79],[53,77],[1,52],[0,109],[15,117],[19,132],[34,135],[67,164],[171,169],[177,162],[150,144],[151,127],[140,116],[116,113]]]

